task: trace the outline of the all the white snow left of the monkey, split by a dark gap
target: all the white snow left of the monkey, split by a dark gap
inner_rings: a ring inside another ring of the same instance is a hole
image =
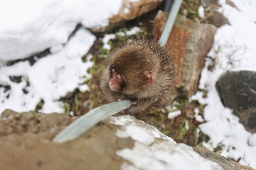
[[[87,70],[93,63],[83,63],[81,57],[96,38],[86,28],[107,26],[121,4],[122,0],[1,1],[0,84],[9,85],[11,90],[0,88],[0,113],[6,108],[35,110],[41,100],[45,102],[41,112],[63,113],[58,101],[61,97],[75,88],[88,90],[86,84],[81,84],[91,77]],[[84,28],[69,39],[79,23]],[[40,59],[35,56],[33,66],[28,61],[2,66],[8,60],[33,56],[46,48],[51,54]],[[12,82],[9,76],[22,76],[22,82]]]

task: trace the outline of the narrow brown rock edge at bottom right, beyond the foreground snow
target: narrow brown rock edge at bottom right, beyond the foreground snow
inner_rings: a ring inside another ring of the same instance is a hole
[[[199,153],[201,156],[210,159],[211,161],[217,162],[220,166],[222,166],[223,169],[231,169],[231,170],[253,170],[249,166],[241,165],[235,161],[232,161],[231,159],[228,159],[224,156],[221,156],[215,152],[212,152],[208,149],[201,148],[201,147],[193,147],[194,151]]]

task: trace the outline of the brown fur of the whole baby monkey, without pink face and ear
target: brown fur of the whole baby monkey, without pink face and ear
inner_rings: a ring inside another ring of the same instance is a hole
[[[109,80],[112,68],[124,79],[125,86],[120,92],[112,91]],[[152,71],[153,82],[147,82],[143,72]],[[109,103],[119,98],[136,102],[129,114],[142,113],[149,107],[162,107],[173,93],[175,70],[173,59],[164,47],[155,40],[132,39],[114,52],[103,71],[100,88]]]

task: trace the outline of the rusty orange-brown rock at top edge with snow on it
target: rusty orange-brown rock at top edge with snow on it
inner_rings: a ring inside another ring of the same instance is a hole
[[[109,19],[109,26],[101,28],[92,28],[92,32],[107,32],[115,27],[120,26],[127,20],[132,20],[144,13],[155,9],[163,0],[123,0],[119,13]]]

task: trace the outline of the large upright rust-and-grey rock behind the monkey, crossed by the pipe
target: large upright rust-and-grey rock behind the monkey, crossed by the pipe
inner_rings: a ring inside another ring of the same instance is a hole
[[[155,17],[154,36],[159,38],[164,29],[168,13],[158,11]],[[185,17],[177,17],[167,41],[167,47],[176,56],[177,91],[180,97],[189,98],[195,93],[204,67],[216,27],[210,24],[193,23]]]

